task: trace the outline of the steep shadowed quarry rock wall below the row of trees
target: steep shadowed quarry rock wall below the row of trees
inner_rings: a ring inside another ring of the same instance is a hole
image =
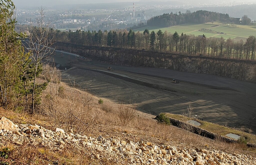
[[[84,54],[95,60],[108,61],[116,65],[167,68],[182,72],[211,74],[256,82],[255,61],[217,59],[120,48],[77,46],[58,42],[55,43],[55,47],[68,52]]]

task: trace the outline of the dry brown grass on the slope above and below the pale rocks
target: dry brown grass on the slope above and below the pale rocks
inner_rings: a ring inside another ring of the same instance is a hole
[[[38,124],[48,129],[58,126],[92,137],[120,137],[121,140],[143,140],[158,145],[218,149],[228,153],[239,152],[256,156],[255,149],[245,145],[211,140],[193,133],[188,134],[185,130],[171,125],[157,123],[155,119],[136,111],[132,104],[117,104],[104,100],[104,103],[99,105],[98,99],[67,84],[51,83],[42,96],[44,108],[39,114],[31,116],[0,109],[0,115],[7,116],[15,123]],[[176,118],[184,119],[182,116],[178,117]],[[13,164],[114,164],[107,157],[103,162],[98,162],[86,149],[70,147],[53,152],[42,146],[23,145],[14,148],[10,143],[7,145],[12,148],[8,160],[15,160]]]

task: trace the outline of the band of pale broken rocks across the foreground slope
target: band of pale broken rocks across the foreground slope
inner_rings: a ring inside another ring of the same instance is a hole
[[[87,154],[95,160],[108,159],[115,164],[177,164],[177,165],[247,165],[256,164],[256,157],[244,154],[228,154],[218,150],[189,149],[175,146],[158,146],[142,140],[123,141],[120,138],[87,137],[54,131],[39,125],[16,125],[9,119],[0,119],[0,146],[5,142],[15,145],[42,146],[53,151],[68,146],[74,149],[87,149]]]

